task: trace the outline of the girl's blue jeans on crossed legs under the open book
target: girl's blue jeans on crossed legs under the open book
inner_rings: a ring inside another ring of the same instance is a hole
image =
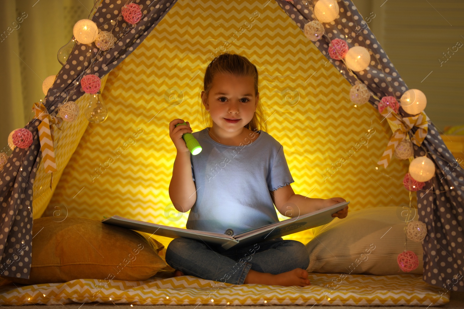
[[[209,242],[178,237],[166,249],[166,263],[185,275],[244,284],[250,269],[271,274],[307,269],[309,253],[303,243],[282,237],[227,250]]]

